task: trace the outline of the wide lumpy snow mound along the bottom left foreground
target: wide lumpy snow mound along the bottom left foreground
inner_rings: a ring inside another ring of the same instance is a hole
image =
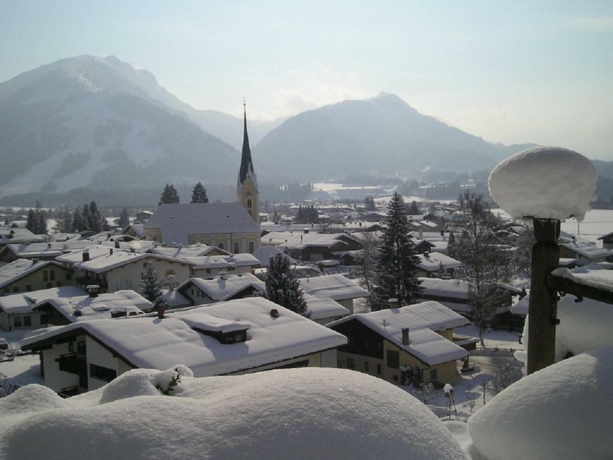
[[[176,396],[153,394],[169,376],[136,369],[61,408],[3,416],[0,458],[464,458],[424,404],[359,372],[183,374]]]

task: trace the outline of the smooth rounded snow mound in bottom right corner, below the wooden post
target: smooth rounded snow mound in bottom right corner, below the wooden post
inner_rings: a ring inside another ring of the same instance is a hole
[[[468,419],[489,460],[611,459],[613,347],[522,378]]]

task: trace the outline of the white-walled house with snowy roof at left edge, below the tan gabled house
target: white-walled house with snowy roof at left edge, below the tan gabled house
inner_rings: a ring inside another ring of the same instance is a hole
[[[38,302],[55,297],[74,297],[85,295],[83,289],[77,286],[61,286],[60,288],[39,289],[29,293],[10,294],[0,297],[0,329],[38,329],[47,327],[47,316],[44,313],[32,311]]]

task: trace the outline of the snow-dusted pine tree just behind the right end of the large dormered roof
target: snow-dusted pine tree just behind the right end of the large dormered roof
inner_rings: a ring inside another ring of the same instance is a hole
[[[294,270],[289,266],[289,259],[283,254],[277,254],[268,259],[268,274],[266,276],[266,298],[302,316],[307,313],[300,282]]]

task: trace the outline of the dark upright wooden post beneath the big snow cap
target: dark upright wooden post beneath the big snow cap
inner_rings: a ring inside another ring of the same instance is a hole
[[[528,307],[528,374],[555,362],[557,292],[547,287],[547,274],[560,263],[560,221],[533,219],[532,277]]]

